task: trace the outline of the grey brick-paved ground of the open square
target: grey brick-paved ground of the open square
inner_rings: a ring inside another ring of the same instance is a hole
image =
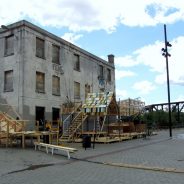
[[[87,150],[71,144],[78,149],[71,160],[33,148],[0,148],[0,184],[183,184],[181,134],[184,129],[173,130],[170,139],[169,131],[160,131],[149,139],[96,144]],[[169,168],[175,171],[165,172]]]

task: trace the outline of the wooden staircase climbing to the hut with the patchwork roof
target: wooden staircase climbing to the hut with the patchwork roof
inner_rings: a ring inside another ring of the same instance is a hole
[[[77,137],[77,133],[81,132],[81,127],[86,120],[87,115],[84,115],[82,111],[77,112],[77,115],[70,123],[69,127],[63,132],[60,137],[60,142],[71,142]]]

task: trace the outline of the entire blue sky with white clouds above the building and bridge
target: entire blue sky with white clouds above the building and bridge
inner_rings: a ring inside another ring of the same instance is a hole
[[[107,60],[115,55],[118,99],[167,102],[164,24],[171,101],[184,100],[183,0],[0,0],[0,24],[26,19]]]

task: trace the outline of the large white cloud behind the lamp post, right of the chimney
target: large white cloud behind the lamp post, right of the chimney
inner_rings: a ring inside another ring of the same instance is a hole
[[[184,72],[183,72],[183,48],[184,37],[180,36],[171,40],[172,47],[169,48],[171,57],[169,60],[169,76],[173,84],[184,85]],[[132,55],[119,57],[115,60],[118,67],[133,67],[136,65],[146,65],[150,68],[151,72],[156,72],[155,82],[163,84],[166,82],[166,61],[162,56],[161,48],[164,43],[156,41],[153,44],[146,45],[140,49],[135,50]],[[120,77],[121,73],[117,73]]]

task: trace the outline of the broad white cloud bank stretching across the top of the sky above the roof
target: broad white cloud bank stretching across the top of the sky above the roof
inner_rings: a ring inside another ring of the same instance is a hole
[[[71,31],[106,30],[119,24],[154,26],[184,20],[183,0],[0,0],[0,22],[29,18]]]

